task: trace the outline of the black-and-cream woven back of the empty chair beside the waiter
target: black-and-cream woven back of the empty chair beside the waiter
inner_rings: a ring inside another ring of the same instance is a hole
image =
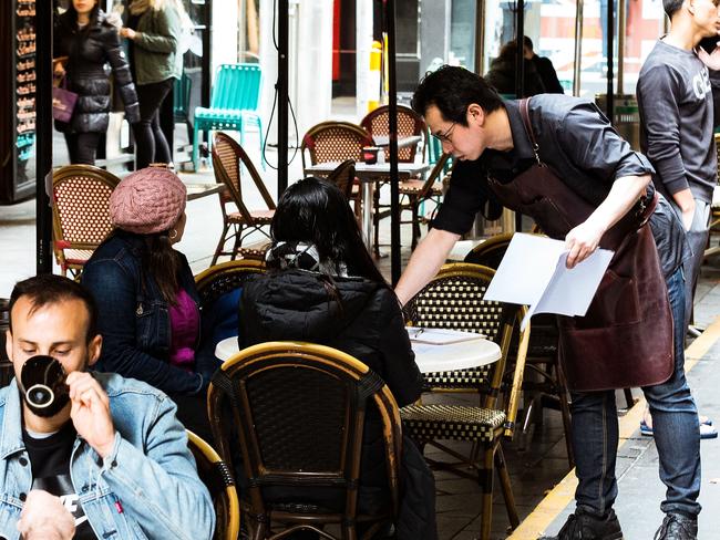
[[[514,313],[507,304],[483,300],[492,280],[492,269],[476,264],[445,264],[404,308],[413,326],[477,332],[501,346]],[[506,354],[507,350],[503,350]],[[496,364],[495,364],[496,365]],[[435,388],[485,388],[492,366],[425,374]]]

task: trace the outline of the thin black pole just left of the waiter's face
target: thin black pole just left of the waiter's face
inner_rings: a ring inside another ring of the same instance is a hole
[[[398,190],[398,81],[395,76],[395,1],[385,1],[388,25],[388,93],[390,121],[390,273],[393,287],[400,281],[400,193]]]

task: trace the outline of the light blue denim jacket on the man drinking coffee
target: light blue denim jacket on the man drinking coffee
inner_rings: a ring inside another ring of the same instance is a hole
[[[162,392],[116,374],[95,373],[110,398],[115,444],[102,459],[82,437],[70,476],[95,536],[104,540],[209,539],[215,512],[197,476],[175,404]],[[0,390],[0,537],[18,540],[25,495],[32,486],[22,440],[16,381]]]

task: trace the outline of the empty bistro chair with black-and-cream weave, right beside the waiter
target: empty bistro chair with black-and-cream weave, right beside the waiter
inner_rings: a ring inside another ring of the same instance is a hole
[[[413,325],[479,332],[500,345],[502,355],[495,364],[425,376],[431,386],[452,388],[474,384],[482,394],[481,406],[421,403],[403,407],[400,412],[403,429],[421,448],[432,444],[460,460],[457,464],[426,458],[432,466],[475,479],[482,486],[482,540],[490,539],[495,469],[500,476],[511,527],[514,529],[520,525],[501,440],[503,437],[512,438],[515,429],[529,339],[528,324],[517,334],[517,359],[510,373],[510,383],[505,384],[511,340],[515,324],[520,325],[526,309],[483,300],[494,273],[494,270],[479,264],[445,264],[405,307]],[[471,442],[473,449],[470,458],[439,444],[439,439]],[[482,456],[477,458],[480,451]],[[474,474],[467,472],[469,466],[475,470]]]

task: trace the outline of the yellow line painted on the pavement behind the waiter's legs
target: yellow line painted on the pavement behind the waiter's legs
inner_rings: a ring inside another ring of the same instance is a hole
[[[710,347],[720,339],[720,316],[717,318],[702,334],[697,338],[692,344],[685,351],[685,371],[689,372],[704,356]],[[627,414],[619,419],[620,444],[627,443],[637,432],[642,412],[645,411],[645,399],[640,398]],[[545,529],[555,521],[567,506],[575,498],[575,488],[577,478],[575,469],[570,470],[565,478],[560,480],[541,501],[541,503],[531,512],[527,518],[507,537],[507,540],[536,540]]]

